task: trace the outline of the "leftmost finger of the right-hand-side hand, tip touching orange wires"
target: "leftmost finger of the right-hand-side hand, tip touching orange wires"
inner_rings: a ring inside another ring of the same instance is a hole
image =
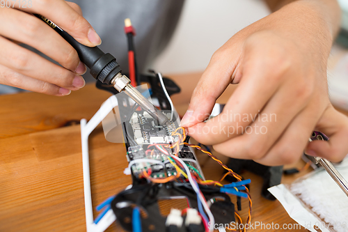
[[[189,109],[180,123],[182,127],[191,127],[205,121],[212,113],[216,99],[230,84],[237,62],[231,61],[231,54],[225,54],[226,52],[215,52],[212,56],[192,93]]]

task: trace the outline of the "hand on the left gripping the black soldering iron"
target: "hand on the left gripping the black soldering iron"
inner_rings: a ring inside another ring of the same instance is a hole
[[[100,45],[100,37],[82,17],[79,6],[63,0],[19,0],[20,7],[19,1],[0,1],[0,84],[58,96],[82,88],[85,81],[81,75],[86,66],[77,52],[45,22],[31,15],[47,17],[83,45]],[[20,47],[18,42],[63,67]]]

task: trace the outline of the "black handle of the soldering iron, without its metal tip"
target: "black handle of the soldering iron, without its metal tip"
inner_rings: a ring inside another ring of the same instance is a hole
[[[100,82],[111,84],[111,80],[118,72],[121,72],[120,65],[116,62],[116,58],[109,53],[104,53],[99,47],[87,47],[77,42],[69,33],[63,31],[59,26],[54,24],[51,20],[43,17],[42,15],[34,14],[40,20],[46,22],[54,29],[59,35],[61,35],[67,42],[74,47],[79,54],[79,59],[82,63],[86,64],[90,68],[90,74],[99,79]]]

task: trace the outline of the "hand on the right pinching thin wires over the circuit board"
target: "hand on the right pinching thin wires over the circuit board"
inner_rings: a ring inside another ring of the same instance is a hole
[[[214,53],[182,119],[191,137],[223,155],[280,165],[299,159],[317,126],[331,139],[308,145],[309,155],[340,161],[348,153],[348,120],[327,90],[333,36],[299,4],[251,24]],[[223,112],[203,122],[231,83],[239,86]]]

